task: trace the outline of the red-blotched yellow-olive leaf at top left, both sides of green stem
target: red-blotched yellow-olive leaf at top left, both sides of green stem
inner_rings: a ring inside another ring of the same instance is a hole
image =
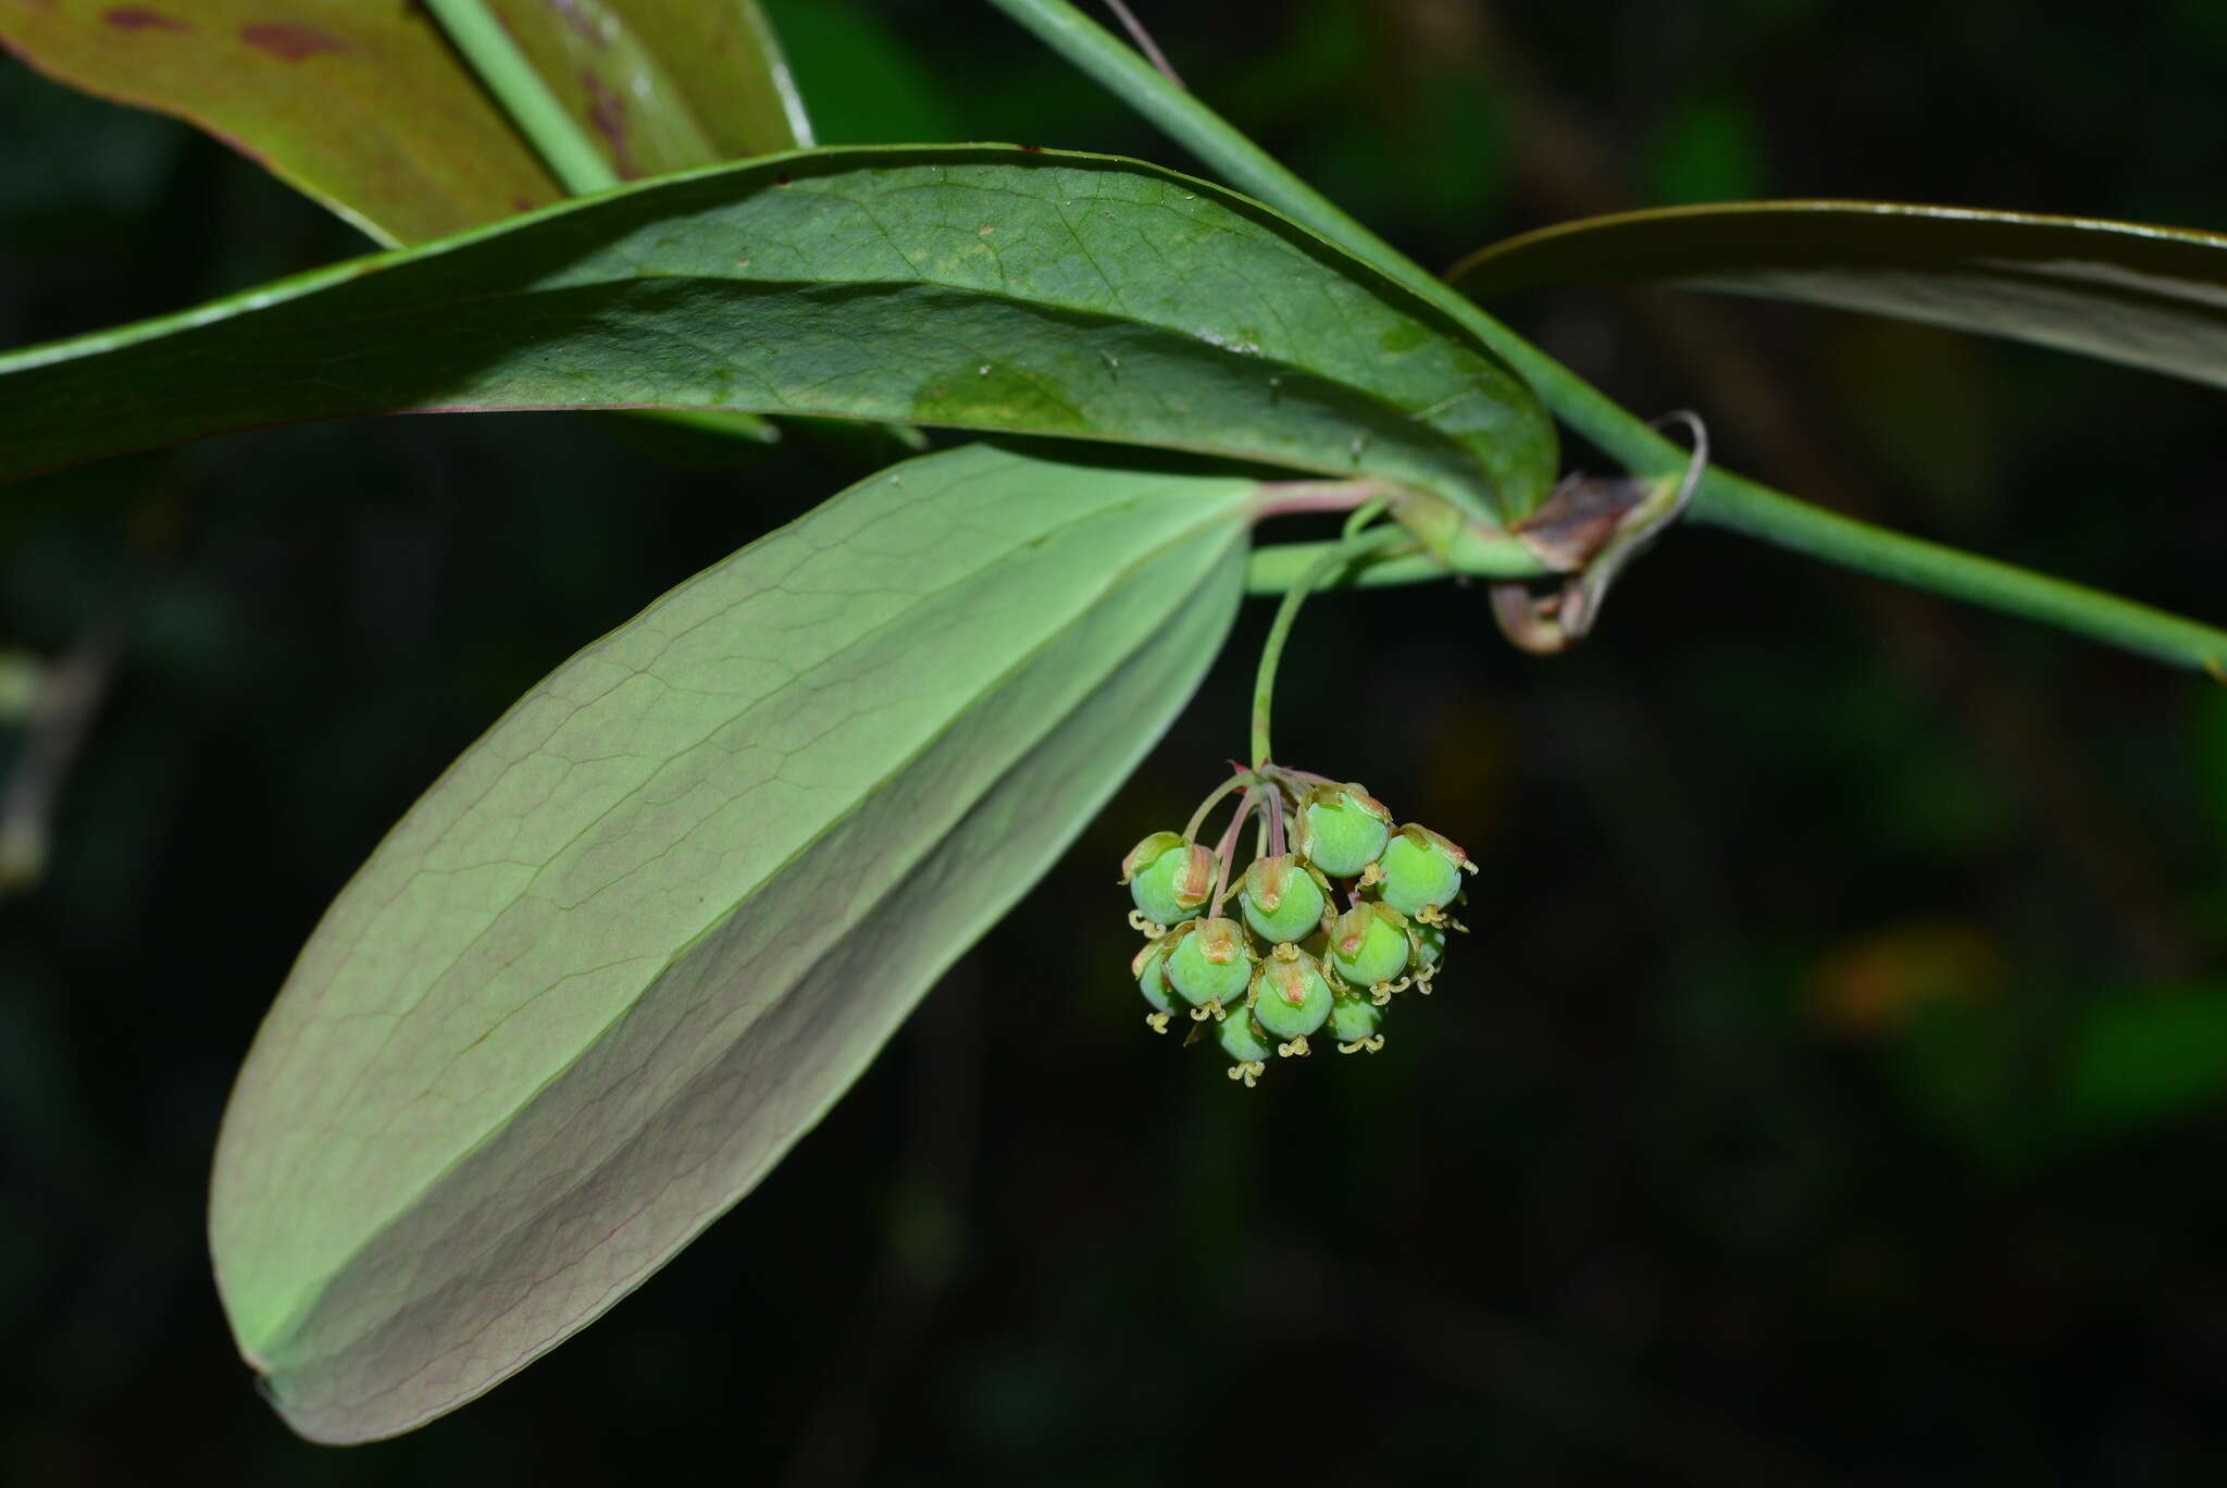
[[[811,143],[755,0],[490,0],[626,176]],[[559,200],[532,147],[416,4],[0,0],[47,76],[176,114],[385,245]]]

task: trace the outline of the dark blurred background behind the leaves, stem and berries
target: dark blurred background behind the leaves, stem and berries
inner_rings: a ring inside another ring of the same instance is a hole
[[[1138,9],[1425,263],[1737,196],[2227,227],[2218,0]],[[831,143],[1185,163],[984,7],[775,13]],[[0,140],[0,345],[363,247],[4,60]],[[1739,301],[1501,310],[1641,412],[1704,410],[1735,468],[2227,619],[2216,390]],[[118,657],[45,878],[0,902],[0,1479],[2227,1481],[2227,691],[1699,528],[1563,659],[1452,586],[1301,621],[1283,755],[1483,864],[1381,1056],[1247,1094],[1125,978],[1114,864],[1238,751],[1256,601],[733,1216],[481,1403],[292,1439],[200,1223],[294,949],[519,691],[864,468],[452,417],[0,497],[0,706],[27,659]]]

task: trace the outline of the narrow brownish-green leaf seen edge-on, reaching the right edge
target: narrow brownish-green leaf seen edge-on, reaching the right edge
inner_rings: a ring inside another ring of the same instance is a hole
[[[2073,216],[1764,200],[1623,212],[1454,267],[1477,298],[1672,283],[2033,341],[2227,388],[2227,236]]]

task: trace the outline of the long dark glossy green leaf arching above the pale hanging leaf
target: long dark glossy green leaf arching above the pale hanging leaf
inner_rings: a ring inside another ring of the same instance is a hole
[[[1258,203],[1011,147],[666,178],[0,356],[0,479],[396,410],[733,408],[1060,434],[1525,512],[1530,390]]]

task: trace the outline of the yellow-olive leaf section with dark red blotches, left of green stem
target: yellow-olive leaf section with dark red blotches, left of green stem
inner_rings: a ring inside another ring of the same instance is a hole
[[[432,18],[372,0],[0,0],[47,76],[236,145],[379,243],[559,200]]]

